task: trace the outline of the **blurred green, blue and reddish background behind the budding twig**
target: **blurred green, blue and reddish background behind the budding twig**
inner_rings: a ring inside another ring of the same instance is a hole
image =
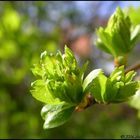
[[[87,73],[102,68],[109,74],[113,58],[98,50],[96,28],[105,27],[120,6],[132,22],[140,24],[139,1],[7,1],[0,2],[0,138],[120,138],[139,135],[140,100],[94,105],[74,113],[61,127],[44,130],[42,103],[30,93],[35,80],[31,67],[47,50],[72,49],[79,65],[89,60]],[[140,43],[130,54],[128,65],[140,59]],[[139,97],[140,98],[140,97]],[[139,104],[139,105],[138,105]]]

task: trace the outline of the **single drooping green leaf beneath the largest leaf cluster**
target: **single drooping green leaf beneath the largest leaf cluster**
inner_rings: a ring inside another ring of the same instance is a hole
[[[45,120],[44,129],[58,127],[64,124],[72,115],[75,107],[66,103],[57,105],[45,105],[41,110],[41,116]]]

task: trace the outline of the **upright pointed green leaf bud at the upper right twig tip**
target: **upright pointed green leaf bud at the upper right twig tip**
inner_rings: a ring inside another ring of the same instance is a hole
[[[117,7],[107,27],[99,27],[96,33],[98,36],[96,46],[118,59],[120,56],[125,57],[132,50],[140,36],[140,28],[133,27],[129,16]]]

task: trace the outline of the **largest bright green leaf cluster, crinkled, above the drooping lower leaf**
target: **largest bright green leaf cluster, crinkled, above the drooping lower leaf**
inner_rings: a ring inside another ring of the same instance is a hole
[[[53,55],[44,51],[40,63],[32,69],[35,76],[39,75],[32,86],[33,97],[48,104],[55,101],[80,103],[84,96],[82,83],[86,65],[78,67],[72,51],[66,46],[63,55],[61,52]]]

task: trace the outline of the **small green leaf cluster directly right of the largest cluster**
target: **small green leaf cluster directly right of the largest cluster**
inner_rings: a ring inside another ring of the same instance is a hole
[[[135,94],[139,86],[138,81],[132,81],[135,74],[134,71],[130,71],[125,75],[124,66],[116,67],[109,77],[106,77],[101,71],[101,73],[95,74],[95,77],[89,78],[86,93],[91,93],[99,103],[127,101]]]

